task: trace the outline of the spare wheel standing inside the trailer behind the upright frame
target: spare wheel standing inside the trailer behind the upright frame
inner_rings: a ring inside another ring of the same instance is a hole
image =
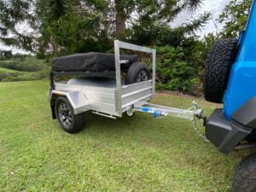
[[[134,84],[150,79],[150,72],[148,66],[143,62],[134,62],[129,67],[125,84]]]

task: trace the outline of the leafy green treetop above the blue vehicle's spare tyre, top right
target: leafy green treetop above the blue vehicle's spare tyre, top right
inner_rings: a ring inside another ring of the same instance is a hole
[[[224,29],[220,33],[223,38],[238,38],[243,31],[250,13],[253,0],[231,0],[219,15],[219,22],[224,23]]]

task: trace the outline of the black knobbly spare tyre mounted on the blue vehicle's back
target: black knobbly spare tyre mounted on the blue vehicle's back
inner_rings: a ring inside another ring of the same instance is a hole
[[[237,50],[237,40],[231,38],[218,41],[210,50],[203,83],[204,96],[208,102],[221,103],[223,101]]]

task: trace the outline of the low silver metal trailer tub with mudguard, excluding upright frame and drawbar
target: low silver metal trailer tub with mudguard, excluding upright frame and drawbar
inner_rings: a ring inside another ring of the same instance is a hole
[[[55,90],[49,90],[49,100],[67,96],[75,114],[93,110],[111,117],[122,117],[135,103],[148,101],[154,94],[153,80],[121,85],[120,95],[115,85],[112,79],[71,79],[67,83],[55,83]]]

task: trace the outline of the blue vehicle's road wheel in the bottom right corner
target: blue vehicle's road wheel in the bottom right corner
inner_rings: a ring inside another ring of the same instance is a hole
[[[256,191],[256,154],[251,154],[236,167],[232,192],[254,191]]]

